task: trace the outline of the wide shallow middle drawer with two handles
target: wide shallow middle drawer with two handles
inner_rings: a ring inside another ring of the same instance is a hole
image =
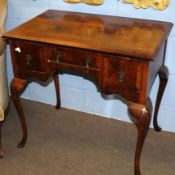
[[[99,54],[89,51],[49,46],[46,55],[48,63],[82,66],[89,69],[100,68]]]

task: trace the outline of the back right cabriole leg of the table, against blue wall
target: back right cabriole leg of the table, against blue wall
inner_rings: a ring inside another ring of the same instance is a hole
[[[153,119],[153,125],[154,125],[154,129],[156,131],[161,131],[161,128],[159,127],[159,125],[157,123],[157,115],[159,112],[159,107],[160,107],[160,103],[162,100],[162,96],[163,96],[163,93],[165,91],[165,87],[166,87],[167,82],[168,82],[168,74],[169,74],[168,68],[166,66],[162,66],[158,72],[160,83],[159,83],[159,90],[158,90],[158,94],[157,94],[154,119]]]

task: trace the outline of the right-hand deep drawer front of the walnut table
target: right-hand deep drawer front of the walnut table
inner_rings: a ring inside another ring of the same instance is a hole
[[[104,57],[102,89],[137,101],[142,85],[142,63],[125,58]]]

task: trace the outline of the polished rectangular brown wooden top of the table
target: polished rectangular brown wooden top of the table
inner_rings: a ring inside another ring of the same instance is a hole
[[[172,26],[169,22],[48,10],[3,37],[153,60]]]

